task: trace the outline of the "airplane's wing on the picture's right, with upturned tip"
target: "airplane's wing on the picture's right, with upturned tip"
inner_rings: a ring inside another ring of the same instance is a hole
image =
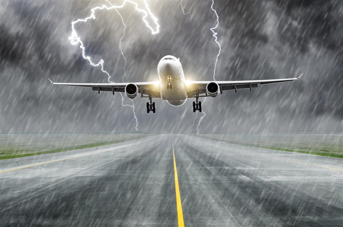
[[[287,79],[242,80],[242,81],[187,81],[185,84],[186,84],[187,95],[189,98],[196,97],[197,95],[198,97],[207,97],[208,94],[206,94],[206,85],[211,82],[215,82],[219,85],[220,94],[223,94],[223,91],[227,91],[227,90],[235,90],[235,93],[237,93],[237,89],[249,88],[251,91],[252,88],[257,88],[258,85],[299,80],[302,75],[303,73],[301,73],[301,75],[296,78],[287,78]]]

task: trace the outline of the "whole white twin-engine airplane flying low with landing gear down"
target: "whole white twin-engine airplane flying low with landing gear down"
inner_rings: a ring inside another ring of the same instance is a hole
[[[92,87],[92,91],[122,92],[128,98],[134,99],[139,94],[141,98],[149,98],[146,103],[146,112],[155,113],[153,98],[162,98],[172,106],[181,106],[187,98],[196,98],[193,101],[193,112],[202,111],[200,97],[217,97],[223,91],[257,88],[258,85],[272,84],[299,80],[303,73],[296,78],[272,80],[242,80],[242,81],[189,81],[185,80],[184,70],[180,58],[171,55],[164,56],[157,65],[159,81],[138,83],[54,83],[55,85]]]

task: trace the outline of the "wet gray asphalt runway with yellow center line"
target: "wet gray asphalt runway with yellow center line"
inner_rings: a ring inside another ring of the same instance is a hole
[[[184,134],[0,160],[0,189],[2,227],[343,225],[342,159]]]

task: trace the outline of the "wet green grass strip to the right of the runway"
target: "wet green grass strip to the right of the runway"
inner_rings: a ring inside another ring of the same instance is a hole
[[[343,158],[343,134],[200,134],[202,138],[277,151]]]

